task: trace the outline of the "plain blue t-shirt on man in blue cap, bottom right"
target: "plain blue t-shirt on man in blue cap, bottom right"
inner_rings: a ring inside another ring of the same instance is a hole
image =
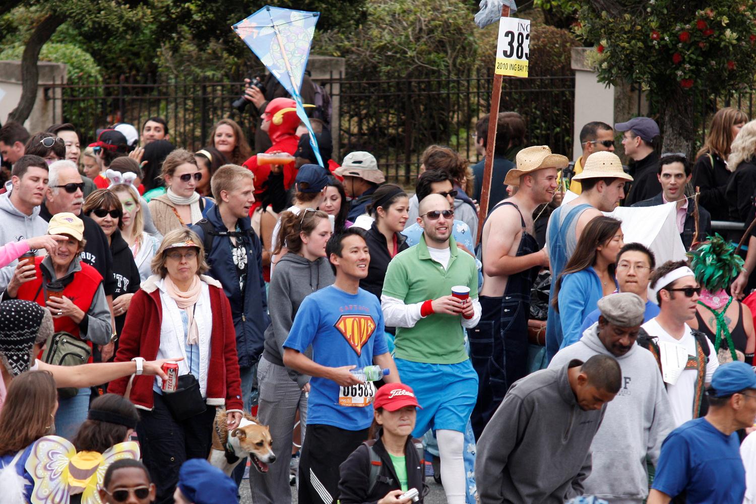
[[[683,423],[662,443],[653,488],[673,497],[685,491],[688,504],[741,504],[745,468],[738,434],[727,436],[705,418]]]

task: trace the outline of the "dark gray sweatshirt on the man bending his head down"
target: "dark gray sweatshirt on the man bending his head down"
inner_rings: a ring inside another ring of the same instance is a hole
[[[478,440],[481,504],[562,504],[583,495],[590,443],[604,416],[584,411],[567,369],[541,369],[514,382]]]

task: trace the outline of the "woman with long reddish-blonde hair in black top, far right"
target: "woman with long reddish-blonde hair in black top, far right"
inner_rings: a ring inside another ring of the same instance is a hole
[[[735,167],[728,169],[727,156],[730,156],[730,146],[746,122],[748,116],[741,110],[733,107],[720,109],[711,119],[704,145],[696,154],[692,186],[701,190],[699,203],[714,221],[730,218],[724,191]]]

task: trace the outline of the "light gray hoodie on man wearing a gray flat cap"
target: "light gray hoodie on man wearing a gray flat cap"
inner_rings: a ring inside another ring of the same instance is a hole
[[[572,359],[588,360],[596,354],[612,355],[603,345],[594,323],[582,339],[562,348],[549,364],[559,369]],[[646,457],[656,465],[662,441],[674,428],[662,373],[655,358],[633,345],[617,357],[622,369],[622,388],[606,407],[601,428],[590,451],[593,471],[585,480],[585,493],[617,502],[643,502],[649,493]]]

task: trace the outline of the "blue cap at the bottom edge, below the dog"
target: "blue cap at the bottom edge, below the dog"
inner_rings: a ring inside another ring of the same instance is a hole
[[[237,502],[234,480],[205,459],[190,459],[178,472],[178,488],[194,504]]]

